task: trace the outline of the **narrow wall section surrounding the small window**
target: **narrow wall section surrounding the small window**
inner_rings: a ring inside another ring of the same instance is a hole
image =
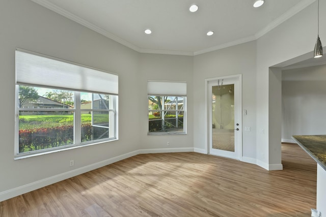
[[[164,54],[141,54],[140,58],[140,81],[141,88],[140,99],[142,112],[141,117],[141,148],[152,149],[155,152],[161,148],[169,148],[169,151],[193,151],[193,57],[164,55]],[[187,108],[186,108],[186,135],[147,135],[148,131],[148,98],[147,81],[148,80],[168,80],[168,81],[186,81],[187,82]],[[170,143],[167,146],[167,142]],[[146,152],[146,151],[145,151]]]

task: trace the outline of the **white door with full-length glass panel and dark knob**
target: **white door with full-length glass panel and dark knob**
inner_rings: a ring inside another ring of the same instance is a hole
[[[209,153],[240,158],[240,91],[238,78],[209,82]]]

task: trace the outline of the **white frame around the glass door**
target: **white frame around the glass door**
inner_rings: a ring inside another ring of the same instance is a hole
[[[216,81],[220,79],[238,79],[239,81],[239,127],[240,127],[240,132],[239,132],[239,156],[237,160],[242,161],[242,74],[236,74],[236,75],[228,75],[228,76],[222,76],[222,77],[214,77],[214,78],[206,78],[205,79],[205,153],[209,153],[209,147],[210,147],[210,138],[211,138],[211,133],[210,133],[210,110],[211,108],[208,107],[208,96],[209,96],[209,82]],[[223,156],[222,156],[223,157]]]

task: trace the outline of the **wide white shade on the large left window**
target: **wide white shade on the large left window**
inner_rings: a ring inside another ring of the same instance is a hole
[[[118,94],[118,75],[21,49],[16,84]]]

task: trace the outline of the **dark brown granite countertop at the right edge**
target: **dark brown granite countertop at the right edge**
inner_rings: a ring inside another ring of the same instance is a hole
[[[326,135],[292,136],[324,170],[326,170]]]

